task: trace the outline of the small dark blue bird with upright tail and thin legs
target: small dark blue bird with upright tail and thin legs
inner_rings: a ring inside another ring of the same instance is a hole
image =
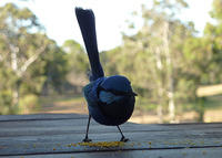
[[[120,125],[132,115],[137,94],[131,82],[123,75],[104,76],[97,43],[95,17],[91,9],[75,8],[77,21],[83,38],[91,66],[89,84],[83,87],[83,96],[88,104],[89,119],[85,137],[82,141],[92,141],[88,137],[91,117],[101,125],[117,126],[120,141],[128,141]]]

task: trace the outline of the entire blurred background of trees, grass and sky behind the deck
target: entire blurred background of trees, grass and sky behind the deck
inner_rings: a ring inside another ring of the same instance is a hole
[[[1,0],[0,115],[88,113],[74,7],[94,11],[105,75],[139,94],[131,122],[222,122],[222,0]]]

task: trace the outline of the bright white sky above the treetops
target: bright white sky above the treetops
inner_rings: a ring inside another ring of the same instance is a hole
[[[0,6],[6,2],[17,2],[27,6],[44,25],[50,39],[62,45],[65,40],[75,40],[83,45],[83,40],[77,23],[74,7],[90,8],[95,14],[97,38],[99,51],[113,49],[121,44],[121,32],[127,32],[128,23],[132,20],[132,11],[140,11],[142,3],[151,0],[0,0]],[[181,12],[182,21],[193,21],[195,29],[201,33],[208,21],[211,21],[209,11],[212,0],[186,0],[189,9]],[[133,19],[139,29],[140,19]]]

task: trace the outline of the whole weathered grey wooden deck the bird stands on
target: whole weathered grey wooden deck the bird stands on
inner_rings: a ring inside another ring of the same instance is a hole
[[[91,122],[94,144],[85,145],[87,120],[78,114],[0,116],[0,158],[222,158],[222,123],[127,123],[121,128],[130,141],[119,144],[117,127]]]

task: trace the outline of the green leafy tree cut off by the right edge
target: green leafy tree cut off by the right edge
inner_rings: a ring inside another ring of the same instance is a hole
[[[211,17],[215,20],[214,24],[206,23],[204,34],[201,38],[192,38],[185,42],[185,64],[186,76],[194,85],[191,88],[199,122],[203,122],[205,97],[198,97],[195,91],[202,85],[219,84],[222,80],[222,1],[214,0]]]

